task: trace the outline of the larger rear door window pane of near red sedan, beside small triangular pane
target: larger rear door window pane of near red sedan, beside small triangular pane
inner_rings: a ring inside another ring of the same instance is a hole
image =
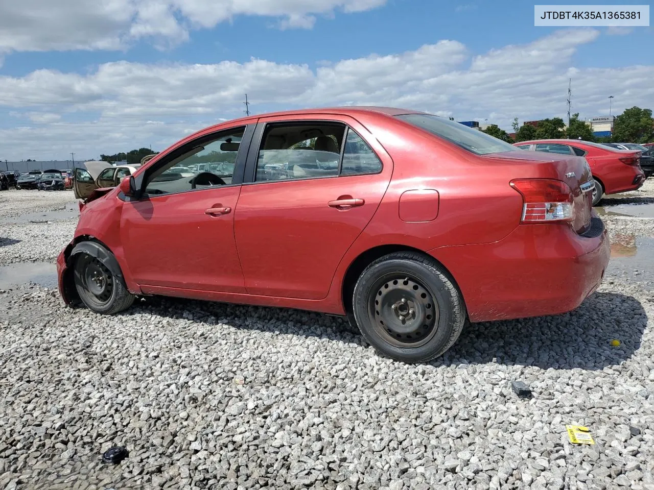
[[[345,125],[271,123],[256,161],[255,182],[338,175]]]

